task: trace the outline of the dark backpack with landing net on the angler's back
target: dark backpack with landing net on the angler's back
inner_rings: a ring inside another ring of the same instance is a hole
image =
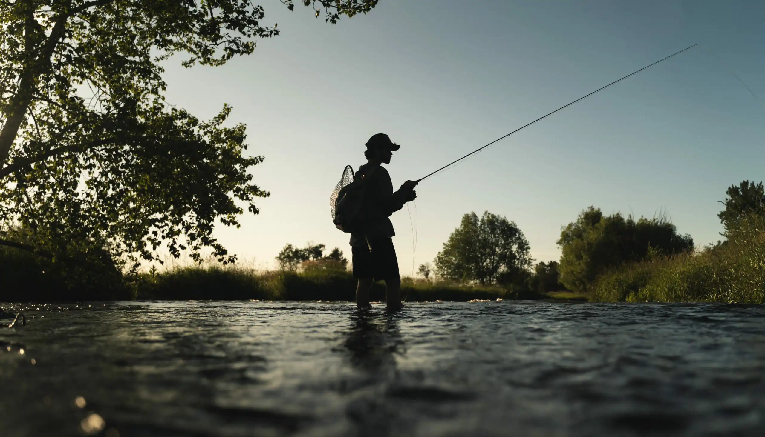
[[[360,177],[356,177],[350,165],[343,169],[343,176],[340,177],[340,182],[330,196],[330,212],[332,212],[335,228],[343,232],[361,231],[364,221],[366,181],[376,168]]]

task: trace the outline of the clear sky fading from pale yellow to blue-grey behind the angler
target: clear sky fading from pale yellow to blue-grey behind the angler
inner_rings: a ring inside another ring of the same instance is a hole
[[[402,144],[393,185],[416,180],[634,70],[672,57],[423,181],[392,215],[403,276],[432,262],[462,215],[518,225],[536,261],[588,206],[666,212],[696,244],[721,239],[725,190],[765,179],[765,2],[381,0],[337,25],[262,0],[281,34],[225,66],[165,63],[168,102],[200,118],[233,106],[254,182],[271,193],[215,236],[275,267],[287,243],[339,247],[329,196],[377,132]],[[416,235],[415,235],[416,234]],[[416,236],[416,238],[415,238]],[[415,246],[416,244],[416,246]]]

